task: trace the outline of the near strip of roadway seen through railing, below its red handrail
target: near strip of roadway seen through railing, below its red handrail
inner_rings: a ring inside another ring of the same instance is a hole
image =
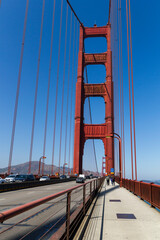
[[[89,185],[87,185],[86,196],[89,195],[89,190]],[[14,218],[8,219],[4,224],[0,224],[0,232],[2,232],[9,227],[12,227],[15,223],[18,223],[13,228],[0,234],[0,239],[13,240],[22,238],[36,240],[39,239],[40,236],[42,236],[50,227],[51,232],[49,232],[49,235],[53,234],[65,221],[66,196],[67,195],[65,194],[23,214],[15,216]],[[81,187],[74,190],[71,194],[71,212],[73,212],[82,201],[83,188]],[[22,221],[22,219],[24,219],[24,221]],[[59,221],[59,219],[61,220]],[[59,221],[58,225],[54,226],[57,221]],[[31,233],[28,235],[30,231]],[[24,237],[25,235],[26,237]]]

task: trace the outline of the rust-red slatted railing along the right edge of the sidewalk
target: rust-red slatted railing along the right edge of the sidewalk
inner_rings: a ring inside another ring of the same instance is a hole
[[[120,183],[119,177],[115,177],[115,180],[117,183]],[[152,207],[160,209],[160,185],[123,178],[122,187],[147,201]]]

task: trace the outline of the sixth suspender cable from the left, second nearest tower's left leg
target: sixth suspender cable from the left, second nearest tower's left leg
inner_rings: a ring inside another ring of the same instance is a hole
[[[64,163],[66,163],[67,151],[67,136],[68,136],[68,105],[69,105],[69,82],[70,82],[70,64],[71,64],[71,43],[72,43],[72,11],[70,20],[70,38],[69,38],[69,61],[68,61],[68,83],[67,83],[67,109],[66,109],[66,124],[65,124],[65,146],[64,146]]]

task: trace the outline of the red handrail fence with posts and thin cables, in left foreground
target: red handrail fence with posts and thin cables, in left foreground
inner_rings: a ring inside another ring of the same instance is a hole
[[[49,239],[71,239],[72,236],[75,233],[76,228],[78,227],[79,223],[81,222],[82,218],[84,217],[86,211],[88,210],[94,196],[98,192],[98,190],[101,188],[105,178],[98,178],[98,179],[93,179],[91,181],[88,181],[84,184],[80,184],[78,186],[72,187],[70,189],[67,189],[65,191],[61,191],[56,194],[52,194],[47,197],[43,197],[41,199],[32,201],[30,203],[18,206],[16,208],[3,211],[0,213],[0,222],[3,223],[4,221],[11,219],[12,217],[18,216],[24,212],[29,211],[30,209],[34,209],[37,206],[40,206],[46,202],[49,202],[53,199],[56,199],[57,203],[61,200],[65,199],[64,205],[63,205],[63,215],[61,216],[60,219],[57,219],[56,221],[59,222],[62,218],[64,218],[63,223],[61,224],[60,228],[56,230],[52,234],[52,236]],[[77,203],[73,206],[74,201],[77,198],[77,193],[79,194],[78,196],[78,205]],[[63,198],[62,198],[63,197]],[[57,210],[57,207],[56,207]],[[33,210],[32,210],[33,211]],[[56,216],[56,211],[55,213],[52,213],[52,216]],[[28,218],[31,218],[29,216]],[[15,220],[15,219],[14,219]],[[24,219],[26,220],[26,218]],[[21,220],[20,222],[22,222]],[[14,223],[14,226],[18,225],[18,223]],[[44,220],[46,222],[46,219]],[[56,223],[54,223],[55,225]],[[42,223],[39,225],[41,226]],[[13,226],[13,227],[14,227]],[[39,227],[37,226],[37,227]],[[53,229],[54,226],[51,226],[51,229]],[[11,227],[9,227],[7,230],[10,230]],[[33,232],[34,229],[31,229],[30,232],[28,232],[25,236],[28,236],[30,233]],[[49,231],[49,230],[48,230]],[[46,233],[42,233],[42,237],[40,239],[43,239],[43,237],[46,237],[48,234],[48,231]],[[0,237],[1,233],[3,234],[2,231],[0,232]],[[23,236],[23,237],[25,237]]]

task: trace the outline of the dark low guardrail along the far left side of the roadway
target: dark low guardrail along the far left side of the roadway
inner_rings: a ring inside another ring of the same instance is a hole
[[[25,188],[31,188],[31,187],[39,187],[39,186],[45,186],[49,184],[56,184],[56,183],[63,183],[63,182],[70,182],[74,181],[76,178],[66,178],[66,179],[51,179],[49,181],[31,181],[31,182],[22,182],[22,183],[3,183],[0,184],[0,193],[1,192],[8,192],[8,191],[14,191],[14,190],[20,190]]]

